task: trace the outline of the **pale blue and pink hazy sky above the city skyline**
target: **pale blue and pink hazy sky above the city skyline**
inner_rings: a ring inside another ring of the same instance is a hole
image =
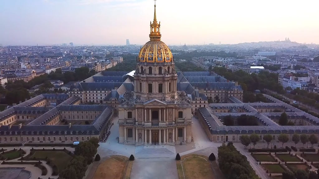
[[[157,0],[168,45],[319,44],[318,0]],[[1,0],[0,44],[145,44],[153,0]]]

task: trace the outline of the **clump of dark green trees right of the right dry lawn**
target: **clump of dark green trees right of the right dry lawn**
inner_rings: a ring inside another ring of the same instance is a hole
[[[218,147],[218,165],[226,179],[258,179],[253,168],[247,161],[246,156],[242,155],[229,142],[223,143]]]

